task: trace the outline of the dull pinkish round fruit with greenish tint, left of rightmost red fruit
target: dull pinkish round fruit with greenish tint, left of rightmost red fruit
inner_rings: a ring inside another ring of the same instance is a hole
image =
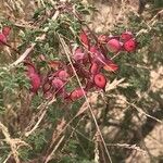
[[[108,49],[111,52],[118,52],[121,50],[121,42],[117,39],[111,39],[108,41]]]

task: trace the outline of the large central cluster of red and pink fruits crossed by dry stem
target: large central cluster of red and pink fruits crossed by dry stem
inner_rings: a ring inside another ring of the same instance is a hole
[[[92,39],[93,37],[93,39]],[[33,92],[37,92],[41,87],[43,96],[49,99],[60,96],[63,99],[75,101],[85,96],[91,89],[105,89],[106,77],[103,71],[115,72],[118,66],[108,57],[109,52],[118,53],[121,51],[133,52],[137,42],[130,32],[125,32],[121,36],[92,36],[86,32],[79,35],[80,46],[72,50],[70,63],[51,61],[48,75],[40,77],[34,64],[25,62],[27,76],[30,79]],[[71,49],[73,49],[71,47]],[[73,91],[67,92],[66,85],[74,76],[74,70],[83,85]]]

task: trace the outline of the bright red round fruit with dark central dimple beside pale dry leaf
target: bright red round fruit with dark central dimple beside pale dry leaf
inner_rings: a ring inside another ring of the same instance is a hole
[[[104,90],[105,85],[106,85],[106,79],[102,74],[95,75],[93,82],[95,82],[96,86],[98,86],[99,88]]]

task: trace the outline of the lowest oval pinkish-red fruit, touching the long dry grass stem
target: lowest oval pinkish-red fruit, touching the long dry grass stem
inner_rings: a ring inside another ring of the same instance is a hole
[[[73,90],[70,95],[71,100],[75,101],[77,99],[80,99],[84,97],[84,95],[86,93],[86,91],[82,88],[76,88],[75,90]]]

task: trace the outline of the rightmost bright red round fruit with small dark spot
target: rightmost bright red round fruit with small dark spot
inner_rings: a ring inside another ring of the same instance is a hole
[[[124,43],[124,49],[127,51],[127,52],[133,52],[136,50],[136,47],[137,47],[137,42],[135,39],[129,39],[128,41],[126,41]]]

